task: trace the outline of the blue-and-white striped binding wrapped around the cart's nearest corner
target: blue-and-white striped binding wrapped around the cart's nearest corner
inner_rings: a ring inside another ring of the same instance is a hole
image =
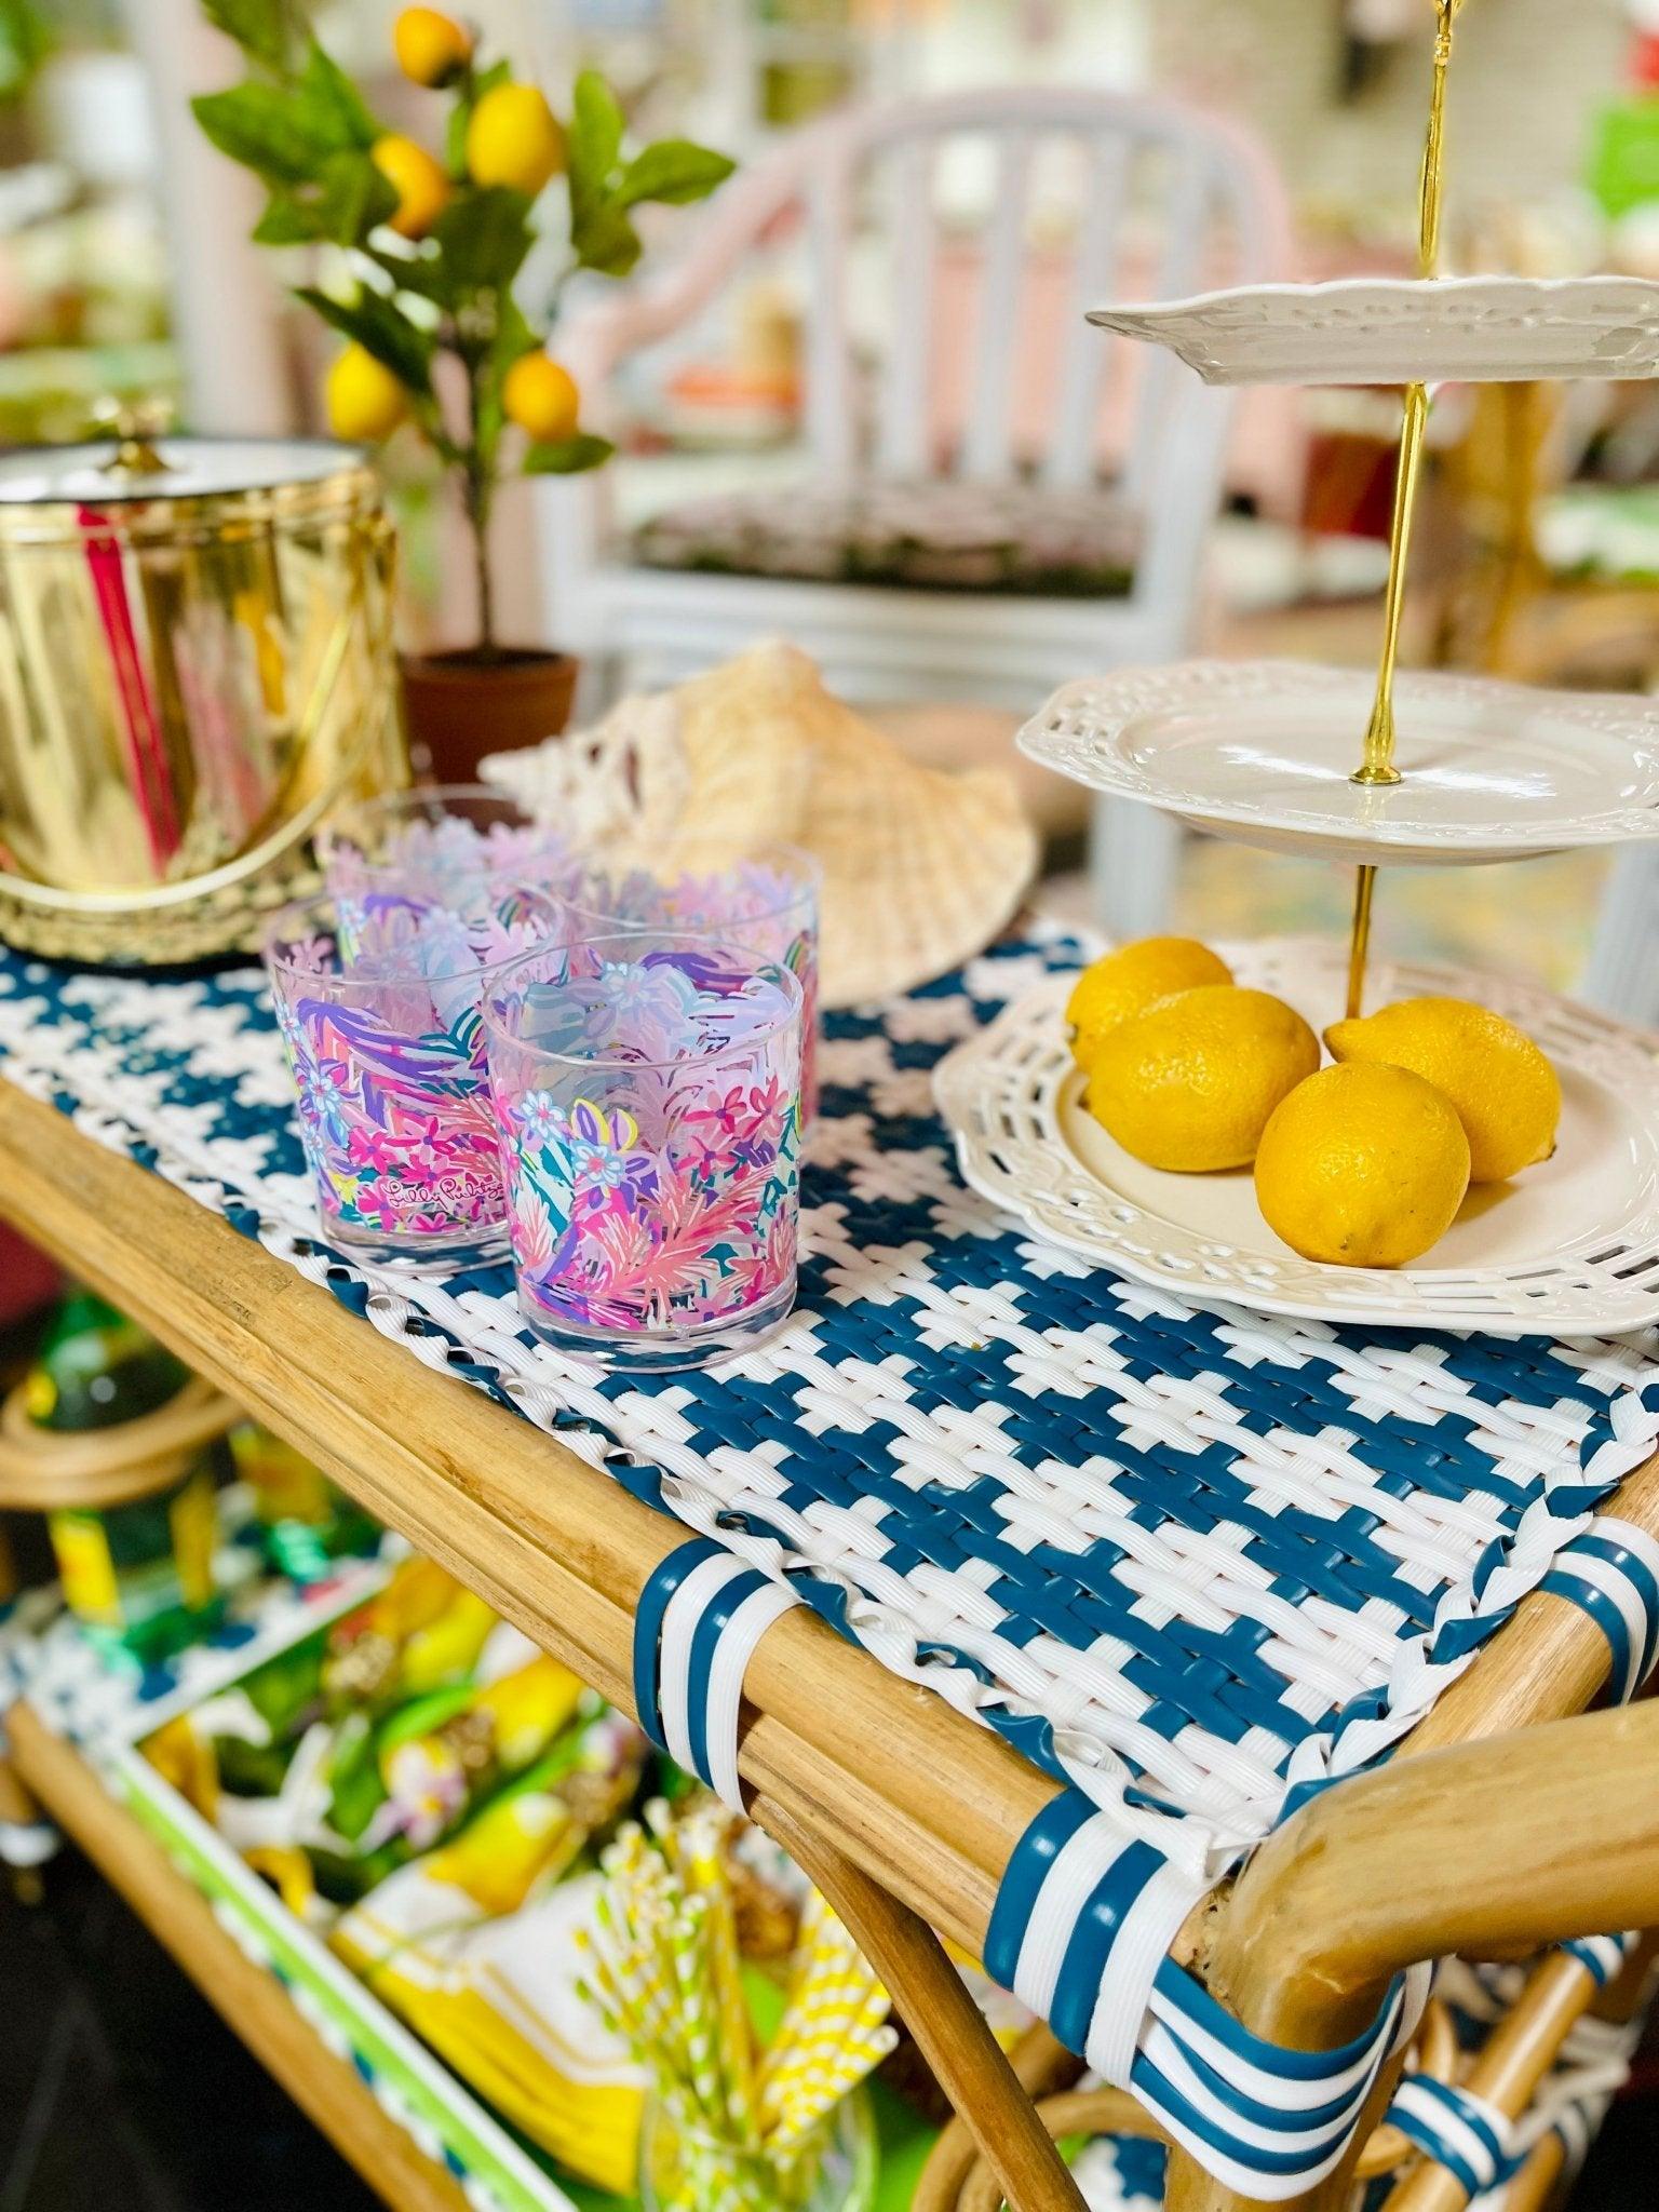
[[[1429,1975],[1400,1975],[1343,2051],[1283,2051],[1168,1955],[1208,1889],[1068,1790],[1013,1849],[984,1966],[1217,2181],[1261,2201],[1298,2197],[1343,2157],[1378,2068],[1422,2013]]]

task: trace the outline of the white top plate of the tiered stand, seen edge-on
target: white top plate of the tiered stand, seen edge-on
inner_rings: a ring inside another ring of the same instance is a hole
[[[1659,376],[1646,276],[1340,276],[1097,307],[1206,385],[1440,385]]]

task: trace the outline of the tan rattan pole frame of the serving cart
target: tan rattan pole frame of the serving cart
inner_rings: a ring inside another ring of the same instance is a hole
[[[482,1391],[418,1365],[327,1290],[9,1084],[0,1212],[630,1708],[635,1606],[684,1528]],[[1610,1509],[1659,1537],[1659,1460]],[[1325,1792],[1267,1838],[1234,1887],[1206,1900],[1177,1955],[1256,2033],[1321,2051],[1356,2033],[1389,1975],[1416,1960],[1524,1955],[1659,1927],[1659,1705],[1573,1719],[1608,1663],[1606,1637],[1579,1608],[1528,1597],[1385,1767]],[[1075,2097],[1051,2097],[1064,2070],[1046,2031],[1011,2064],[938,1940],[984,1949],[1009,1856],[1057,1785],[801,1608],[761,1641],[745,1692],[741,1772],[757,1820],[865,1944],[958,2112],[918,2208],[993,2212],[1006,2199],[1013,2212],[1077,2212],[1051,2128],[1079,2117],[1099,2126],[1106,2110],[1133,2124],[1135,2108],[1117,2097],[1079,2112]],[[148,1838],[102,1796],[88,1798],[95,1783],[75,1754],[27,1714],[7,1725],[0,1798],[15,1807],[33,1785],[389,2201],[451,2208],[453,2183],[387,2150],[389,2121],[367,2093],[345,2095],[338,2062],[283,2035],[252,1997],[254,1969],[232,1969],[206,1907],[188,1909],[186,1885],[148,1856]],[[1584,1966],[1551,1958],[1464,2086],[1522,2112],[1573,2022],[1597,2002],[1628,2006],[1632,1982],[1604,1997]],[[1378,2115],[1394,2077],[1378,2088]],[[1347,2205],[1363,2141],[1365,2130],[1298,2208]],[[1542,2205],[1557,2174],[1551,2139],[1513,2183],[1513,2212]],[[1391,2212],[1462,2203],[1449,2172],[1416,2163]],[[1168,2212],[1248,2208],[1172,2154]]]

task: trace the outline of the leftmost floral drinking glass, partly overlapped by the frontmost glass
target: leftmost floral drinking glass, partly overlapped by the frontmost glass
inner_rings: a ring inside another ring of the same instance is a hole
[[[476,1252],[507,1237],[480,1000],[504,964],[560,938],[538,891],[460,914],[367,894],[265,938],[276,1024],[325,1234],[374,1252]]]

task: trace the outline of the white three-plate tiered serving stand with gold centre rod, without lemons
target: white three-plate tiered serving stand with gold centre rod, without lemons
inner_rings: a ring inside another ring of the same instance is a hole
[[[1400,385],[1383,650],[1376,677],[1298,661],[1177,661],[1068,684],[1020,732],[1031,759],[1212,836],[1358,869],[1336,947],[1225,947],[1243,984],[1314,1024],[1367,1000],[1478,1000],[1562,1075],[1555,1157],[1473,1190],[1413,1267],[1303,1261],[1265,1225],[1250,1175],[1164,1175],[1082,1104],[1064,978],[938,1071],[962,1172],[1031,1228],[1201,1305],[1504,1336],[1608,1336],[1659,1321],[1659,1040],[1520,982],[1369,958],[1378,865],[1469,867],[1659,838],[1659,703],[1491,679],[1396,675],[1431,389],[1440,383],[1659,374],[1659,283],[1433,274],[1455,15],[1436,0],[1420,192],[1420,276],[1267,283],[1093,323],[1175,352],[1212,385]],[[1655,949],[1659,958],[1659,949]]]

